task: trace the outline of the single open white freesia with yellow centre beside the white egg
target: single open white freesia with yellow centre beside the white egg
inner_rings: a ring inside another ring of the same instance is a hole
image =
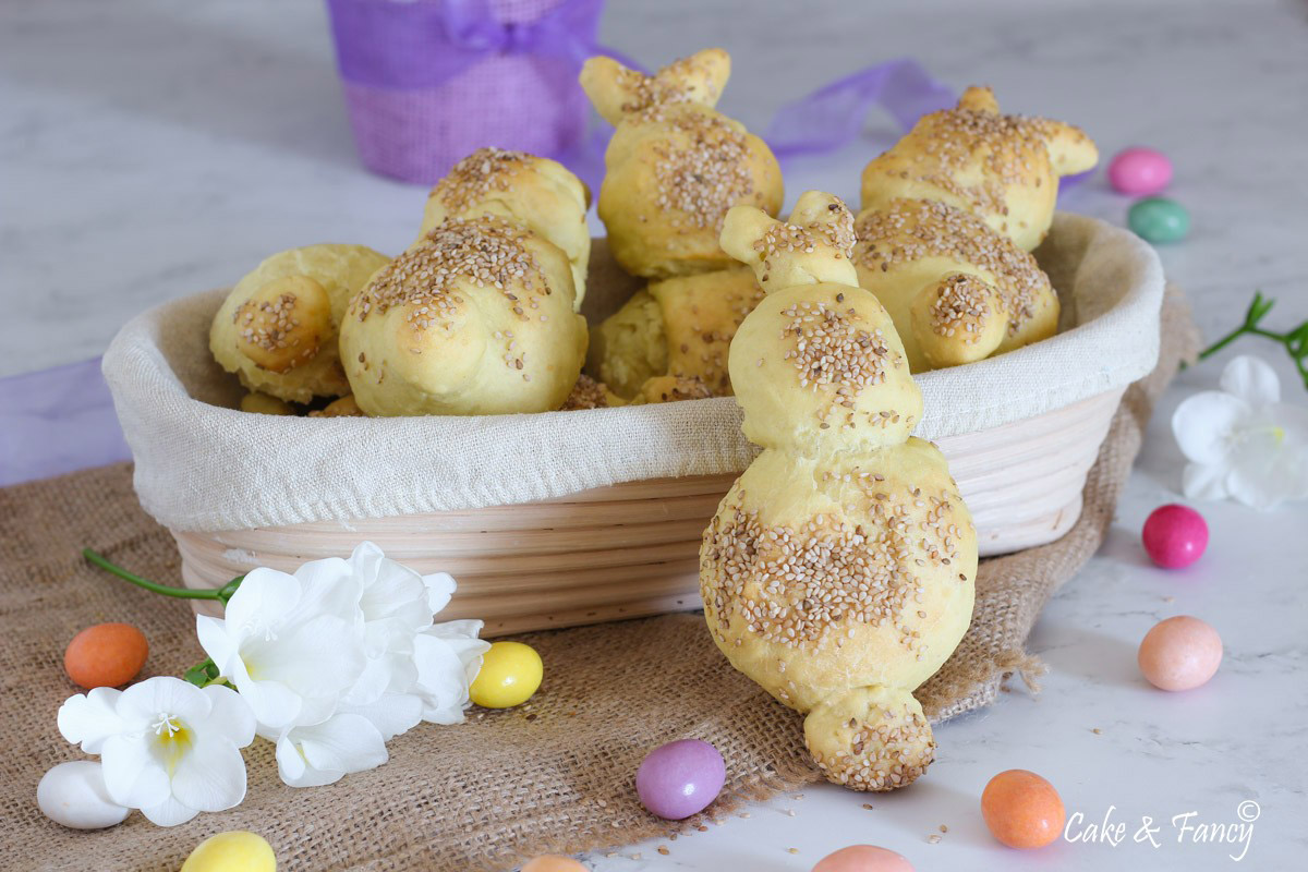
[[[160,826],[245,799],[241,749],[254,741],[250,706],[228,688],[156,677],[127,690],[95,688],[59,709],[59,732],[99,754],[105,787],[119,805]]]

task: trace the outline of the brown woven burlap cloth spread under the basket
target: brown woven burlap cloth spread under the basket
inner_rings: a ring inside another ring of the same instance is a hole
[[[933,720],[985,706],[1007,675],[1039,668],[1023,652],[1027,634],[1103,541],[1154,400],[1197,348],[1179,293],[1168,295],[1162,336],[1158,369],[1126,392],[1090,472],[1076,526],[981,565],[972,628],[920,692]],[[246,752],[250,792],[234,811],[173,829],[133,814],[110,830],[65,830],[41,816],[34,794],[46,769],[80,756],[55,728],[75,692],[61,669],[67,641],[89,624],[128,621],[150,641],[149,675],[178,675],[201,656],[184,603],[86,566],[85,545],[148,577],[178,578],[173,540],[140,510],[128,465],[0,490],[4,868],[175,871],[207,835],[251,829],[286,869],[508,869],[547,850],[670,833],[633,788],[642,756],[663,741],[696,736],[726,757],[727,787],[710,813],[818,778],[799,716],[727,667],[698,614],[671,614],[530,637],[547,664],[530,703],[475,710],[458,727],[422,724],[391,744],[390,763],[332,787],[285,787],[272,745],[256,740]]]

